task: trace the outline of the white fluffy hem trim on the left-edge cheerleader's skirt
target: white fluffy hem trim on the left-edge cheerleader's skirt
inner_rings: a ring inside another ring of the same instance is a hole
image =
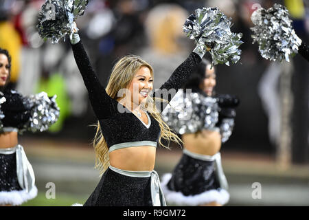
[[[0,204],[19,206],[25,201],[33,199],[36,195],[38,195],[36,186],[34,186],[30,192],[26,192],[26,190],[0,191]]]

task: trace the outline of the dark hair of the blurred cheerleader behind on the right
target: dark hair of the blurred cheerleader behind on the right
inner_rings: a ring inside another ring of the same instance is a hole
[[[200,85],[205,79],[207,65],[211,65],[211,63],[203,58],[201,63],[196,67],[194,73],[190,76],[189,80],[187,80],[187,83],[183,86],[183,89],[192,89],[194,92],[201,92]]]

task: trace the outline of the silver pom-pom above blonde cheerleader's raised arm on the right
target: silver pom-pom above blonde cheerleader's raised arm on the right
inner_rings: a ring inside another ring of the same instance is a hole
[[[240,59],[242,33],[233,33],[230,28],[231,19],[218,8],[198,8],[183,25],[183,31],[196,41],[198,50],[210,52],[212,65],[229,65],[229,61],[237,63]]]

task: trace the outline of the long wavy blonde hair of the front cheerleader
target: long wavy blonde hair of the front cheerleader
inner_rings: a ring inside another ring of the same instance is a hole
[[[153,78],[153,69],[151,65],[148,64],[146,61],[143,61],[139,56],[128,55],[121,58],[114,65],[111,76],[108,80],[108,84],[106,86],[106,93],[108,94],[108,96],[117,99],[118,91],[120,89],[127,88],[128,85],[130,85],[133,77],[141,67],[148,67],[148,69],[150,69],[150,74]],[[148,111],[150,115],[152,115],[152,117],[155,118],[155,120],[157,120],[157,122],[159,123],[161,130],[159,144],[161,144],[165,148],[168,148],[168,146],[164,146],[164,144],[161,142],[162,138],[168,140],[168,144],[171,140],[178,144],[182,143],[181,139],[170,130],[168,124],[166,124],[162,120],[161,114],[159,113],[159,110],[155,105],[155,100],[161,99],[147,96],[146,102],[143,105],[143,109]],[[109,166],[109,156],[108,146],[106,144],[104,136],[102,135],[99,122],[93,140],[93,146],[95,148],[95,168],[99,168],[100,174],[102,175],[102,173],[104,173],[104,170],[106,170],[106,168],[108,168]]]

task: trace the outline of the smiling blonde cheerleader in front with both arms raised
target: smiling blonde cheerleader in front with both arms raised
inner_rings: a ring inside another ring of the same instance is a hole
[[[114,65],[104,89],[77,32],[71,46],[99,120],[94,146],[97,166],[104,171],[84,206],[165,206],[159,176],[153,170],[156,148],[162,139],[181,140],[163,122],[150,96],[152,67],[139,56],[124,56]],[[203,56],[194,50],[160,89],[180,89]]]

